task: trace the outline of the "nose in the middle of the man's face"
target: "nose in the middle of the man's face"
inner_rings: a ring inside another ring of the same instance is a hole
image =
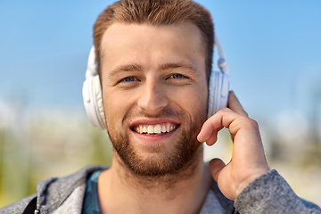
[[[151,115],[161,111],[169,103],[164,89],[157,80],[146,81],[138,98],[139,108]]]

